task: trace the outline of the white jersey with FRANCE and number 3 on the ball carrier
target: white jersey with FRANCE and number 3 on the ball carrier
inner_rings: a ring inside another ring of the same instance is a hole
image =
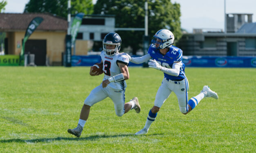
[[[103,72],[105,74],[103,80],[107,80],[110,77],[113,77],[121,73],[121,70],[117,65],[117,62],[124,63],[127,66],[129,63],[129,58],[127,57],[127,54],[124,52],[109,56],[109,55],[105,55],[104,51],[102,50],[102,52],[100,53],[100,57],[103,61]],[[108,86],[116,90],[125,90],[127,85],[124,80],[116,83],[111,82],[108,84]]]

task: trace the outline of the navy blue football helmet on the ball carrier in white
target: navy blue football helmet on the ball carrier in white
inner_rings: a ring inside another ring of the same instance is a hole
[[[119,52],[121,48],[121,37],[117,33],[108,33],[103,39],[103,50],[105,55],[115,55]],[[115,49],[107,49],[106,44],[116,45]]]

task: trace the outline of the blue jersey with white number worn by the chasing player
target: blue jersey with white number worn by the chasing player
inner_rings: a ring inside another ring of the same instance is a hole
[[[165,78],[170,79],[172,81],[181,81],[183,80],[185,75],[185,64],[182,62],[182,50],[176,46],[171,46],[170,50],[166,53],[166,55],[162,55],[159,51],[159,49],[149,47],[149,50],[147,52],[150,54],[150,56],[153,59],[156,59],[156,61],[163,67],[166,68],[172,68],[172,65],[174,62],[178,61],[180,62],[180,74],[178,77],[171,76],[169,74],[164,73]]]

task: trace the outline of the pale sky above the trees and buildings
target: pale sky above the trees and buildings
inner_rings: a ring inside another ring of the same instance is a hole
[[[93,0],[96,3],[97,0]],[[29,0],[7,0],[5,13],[22,13]],[[224,29],[224,0],[171,0],[180,3],[181,27]],[[253,13],[256,22],[256,0],[226,0],[226,13]]]

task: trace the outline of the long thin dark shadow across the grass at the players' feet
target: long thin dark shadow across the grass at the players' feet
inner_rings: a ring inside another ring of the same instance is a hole
[[[162,134],[147,134],[145,136],[154,136],[154,135],[162,135]],[[12,142],[20,142],[20,143],[38,143],[38,142],[54,142],[54,141],[61,141],[61,140],[72,140],[72,141],[83,141],[89,140],[94,141],[100,138],[117,138],[117,137],[127,137],[127,136],[134,136],[139,137],[134,134],[117,134],[117,135],[93,135],[88,137],[80,137],[80,138],[67,138],[67,137],[57,137],[57,138],[42,138],[42,139],[8,139],[8,140],[0,140],[0,143],[12,143]]]

